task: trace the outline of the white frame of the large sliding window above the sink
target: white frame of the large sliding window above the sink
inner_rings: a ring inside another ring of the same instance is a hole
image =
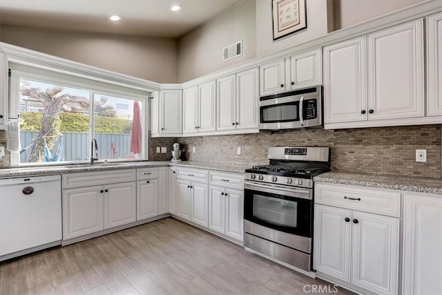
[[[14,63],[15,64],[15,63]],[[21,64],[17,64],[19,67],[23,66]],[[10,71],[10,81],[9,81],[9,113],[15,117],[20,113],[20,79],[30,79],[36,82],[42,82],[46,84],[56,84],[60,86],[72,87],[72,88],[80,88],[86,91],[89,91],[89,142],[95,137],[95,110],[94,106],[94,96],[98,95],[107,95],[110,97],[117,97],[122,99],[132,99],[134,101],[140,102],[142,105],[142,155],[141,158],[133,159],[133,158],[124,158],[124,159],[106,159],[107,162],[139,162],[142,160],[148,160],[148,97],[151,95],[150,92],[140,91],[140,89],[134,89],[124,86],[119,86],[113,83],[106,83],[105,81],[96,81],[93,77],[77,77],[75,75],[69,75],[68,73],[58,73],[57,70],[48,70],[41,69],[33,66],[24,66],[26,69],[29,68],[29,71],[26,70],[15,70],[12,69]],[[50,75],[48,75],[48,73]],[[68,79],[72,77],[72,80]],[[108,88],[104,87],[106,84],[111,86],[111,91],[108,91]],[[118,88],[121,88],[119,90]],[[137,93],[129,93],[127,91],[133,90]],[[142,95],[140,93],[146,93]],[[98,143],[99,144],[99,143]],[[88,149],[89,158],[90,158],[90,149]],[[101,159],[100,159],[101,160]],[[20,153],[19,151],[11,151],[10,152],[10,164],[11,166],[59,166],[66,164],[82,164],[88,163],[87,160],[74,160],[74,161],[63,161],[63,162],[35,162],[35,163],[21,163],[20,162]]]

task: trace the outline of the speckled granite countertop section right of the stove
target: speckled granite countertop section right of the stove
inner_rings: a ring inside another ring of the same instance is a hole
[[[327,172],[316,176],[314,180],[317,182],[376,187],[379,189],[398,189],[418,193],[442,193],[442,180],[428,178]]]

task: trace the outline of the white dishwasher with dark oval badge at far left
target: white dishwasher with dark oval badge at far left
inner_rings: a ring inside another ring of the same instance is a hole
[[[0,180],[0,261],[61,244],[61,176]]]

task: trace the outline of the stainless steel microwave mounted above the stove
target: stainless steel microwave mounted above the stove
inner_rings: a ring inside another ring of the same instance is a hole
[[[323,126],[322,86],[260,97],[260,129]]]

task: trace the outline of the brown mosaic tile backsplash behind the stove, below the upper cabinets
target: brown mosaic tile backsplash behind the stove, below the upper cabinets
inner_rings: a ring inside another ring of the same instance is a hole
[[[204,162],[267,163],[269,146],[330,146],[332,171],[441,178],[441,125],[366,129],[294,129],[276,133],[180,137],[183,158]],[[192,148],[195,146],[195,153]],[[236,154],[240,146],[241,155]],[[427,162],[415,162],[415,150]]]

